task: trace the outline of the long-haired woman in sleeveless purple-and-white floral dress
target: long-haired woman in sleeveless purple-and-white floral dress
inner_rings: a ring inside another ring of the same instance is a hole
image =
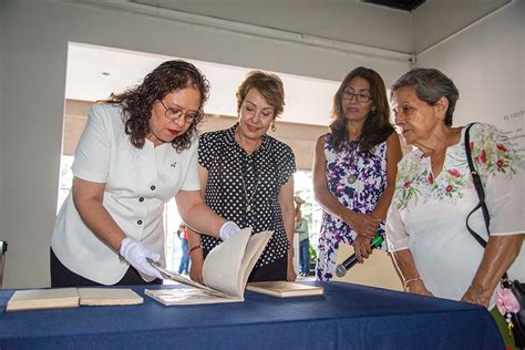
[[[389,122],[383,80],[357,68],[333,97],[330,133],[320,136],[313,159],[313,193],[322,207],[317,279],[330,280],[341,243],[353,245],[358,261],[372,253],[371,239],[384,235],[392,199],[399,136]],[[382,244],[381,249],[385,250]]]

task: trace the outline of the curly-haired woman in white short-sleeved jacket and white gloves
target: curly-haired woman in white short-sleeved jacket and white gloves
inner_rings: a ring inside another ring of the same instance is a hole
[[[90,109],[51,240],[52,287],[161,284],[148,260],[164,266],[163,212],[173,197],[199,231],[238,231],[200,195],[196,127],[208,92],[193,64],[167,61]]]

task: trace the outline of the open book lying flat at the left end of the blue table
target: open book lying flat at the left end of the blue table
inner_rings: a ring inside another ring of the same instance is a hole
[[[50,288],[17,290],[7,311],[78,308],[85,306],[136,305],[144,299],[127,288]]]

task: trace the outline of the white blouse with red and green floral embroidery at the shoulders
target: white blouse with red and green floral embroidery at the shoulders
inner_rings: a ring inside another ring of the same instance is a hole
[[[398,164],[387,218],[389,249],[410,248],[426,288],[437,297],[454,300],[460,300],[469,288],[484,253],[466,229],[466,217],[480,199],[466,161],[464,133],[465,128],[460,143],[447,148],[437,175],[420,150],[403,157]],[[470,140],[472,158],[485,189],[491,235],[523,234],[523,159],[506,135],[493,125],[474,124]],[[481,210],[471,216],[469,225],[488,239]],[[523,248],[508,275],[525,277]]]

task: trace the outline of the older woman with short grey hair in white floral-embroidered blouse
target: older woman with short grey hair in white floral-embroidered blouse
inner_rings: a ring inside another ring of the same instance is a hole
[[[492,308],[505,271],[525,278],[524,164],[496,127],[470,130],[490,236],[481,210],[470,225],[488,241],[484,249],[466,228],[478,196],[466,162],[465,127],[452,127],[457,99],[454,83],[433,69],[412,70],[392,86],[395,123],[416,150],[398,166],[387,237],[408,291]]]

